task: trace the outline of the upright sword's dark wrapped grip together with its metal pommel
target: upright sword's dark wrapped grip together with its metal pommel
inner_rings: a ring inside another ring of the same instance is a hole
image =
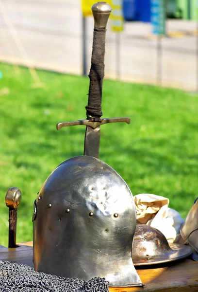
[[[111,13],[111,6],[106,2],[95,3],[92,6],[92,13],[95,24],[86,115],[88,120],[99,121],[102,116],[101,99],[104,78],[106,25]]]

